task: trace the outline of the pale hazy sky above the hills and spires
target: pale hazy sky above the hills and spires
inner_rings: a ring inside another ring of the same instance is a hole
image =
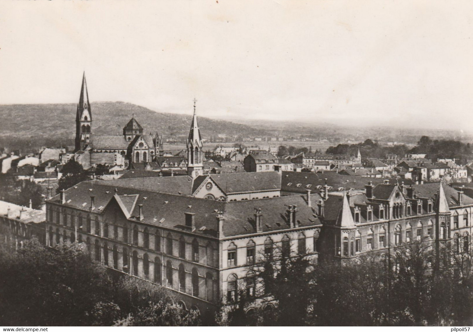
[[[473,1],[1,1],[0,104],[470,130]]]

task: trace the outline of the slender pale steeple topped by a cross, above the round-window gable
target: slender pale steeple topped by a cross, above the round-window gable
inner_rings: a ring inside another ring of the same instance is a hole
[[[194,115],[189,138],[187,139],[187,174],[193,178],[203,175],[202,138],[197,124],[197,115],[195,114],[196,102],[197,100],[194,98]]]

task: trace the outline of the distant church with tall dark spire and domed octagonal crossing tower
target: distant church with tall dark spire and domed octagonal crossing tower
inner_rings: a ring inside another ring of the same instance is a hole
[[[97,135],[92,130],[92,110],[88,100],[85,73],[82,78],[79,104],[76,113],[76,139],[74,158],[84,166],[98,164],[128,167],[131,163],[153,161],[162,149],[161,138],[143,134],[143,127],[135,119],[123,127],[122,135]]]

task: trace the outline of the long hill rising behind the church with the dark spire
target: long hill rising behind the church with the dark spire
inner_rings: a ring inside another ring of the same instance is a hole
[[[92,132],[99,135],[122,134],[132,114],[143,127],[143,132],[158,132],[164,139],[185,137],[189,133],[192,114],[159,113],[148,108],[123,102],[91,103]],[[77,104],[0,105],[0,136],[18,138],[50,137],[73,139]],[[227,136],[269,135],[263,129],[245,124],[199,117],[202,137],[226,134]],[[68,140],[69,141],[69,140]]]

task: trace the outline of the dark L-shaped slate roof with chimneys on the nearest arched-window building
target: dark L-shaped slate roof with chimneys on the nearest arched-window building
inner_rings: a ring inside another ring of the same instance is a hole
[[[205,227],[204,234],[216,236],[218,222],[216,212],[223,212],[223,235],[236,236],[256,233],[254,228],[254,209],[260,208],[263,212],[263,231],[289,229],[286,210],[288,205],[296,204],[298,212],[296,220],[299,227],[321,225],[318,218],[308,207],[304,196],[286,196],[273,198],[271,200],[251,200],[221,202],[199,199],[189,196],[178,196],[162,192],[150,192],[137,190],[135,188],[117,188],[107,185],[107,181],[88,181],[77,184],[65,192],[65,206],[75,207],[88,211],[90,207],[90,195],[95,196],[94,211],[103,211],[107,204],[116,197],[123,202],[126,210],[130,209],[131,218],[139,214],[138,204],[143,204],[143,220],[141,222],[162,227],[185,228],[185,212],[195,213],[194,220],[196,233],[201,227]],[[131,197],[131,195],[133,195]],[[134,196],[138,195],[138,197]],[[128,198],[127,198],[128,196]],[[312,195],[311,202],[314,205],[320,199],[319,195]],[[51,201],[59,202],[60,195],[53,197]],[[85,204],[84,204],[85,203]],[[132,206],[132,207],[131,207]],[[268,227],[269,226],[269,227]]]

